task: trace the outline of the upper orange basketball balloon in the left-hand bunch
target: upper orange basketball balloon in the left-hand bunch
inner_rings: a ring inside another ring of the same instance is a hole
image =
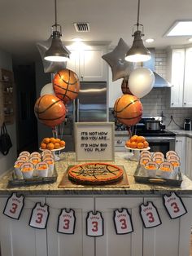
[[[65,104],[72,99],[76,99],[80,90],[79,78],[76,73],[67,68],[55,74],[53,86],[55,95],[62,99]]]

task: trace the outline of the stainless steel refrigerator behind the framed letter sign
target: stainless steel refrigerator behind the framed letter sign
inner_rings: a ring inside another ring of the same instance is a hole
[[[81,82],[78,97],[67,105],[68,113],[63,124],[65,151],[74,151],[74,123],[107,121],[107,82]]]

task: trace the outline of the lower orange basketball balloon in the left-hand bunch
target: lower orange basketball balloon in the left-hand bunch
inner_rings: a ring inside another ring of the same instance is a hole
[[[34,112],[46,126],[58,126],[65,119],[66,108],[63,101],[54,95],[42,95],[37,99]]]

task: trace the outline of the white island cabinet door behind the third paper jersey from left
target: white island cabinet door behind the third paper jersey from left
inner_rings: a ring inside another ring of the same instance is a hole
[[[47,256],[94,256],[94,238],[86,236],[85,220],[89,210],[94,210],[93,197],[49,197],[50,219],[47,224]],[[76,227],[74,234],[58,233],[60,210],[75,210]]]

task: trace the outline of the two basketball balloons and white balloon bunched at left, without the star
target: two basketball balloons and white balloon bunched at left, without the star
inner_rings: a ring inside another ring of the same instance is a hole
[[[59,126],[67,113],[65,104],[75,99],[79,90],[80,82],[76,73],[67,68],[60,70],[55,74],[53,83],[41,89],[40,98],[34,106],[37,119],[46,126]]]

